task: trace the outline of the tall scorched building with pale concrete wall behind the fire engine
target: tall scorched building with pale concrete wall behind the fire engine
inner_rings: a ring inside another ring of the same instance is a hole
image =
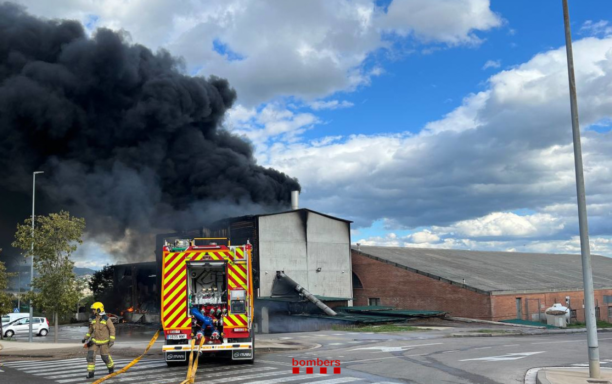
[[[228,218],[192,231],[157,235],[157,265],[162,264],[164,240],[226,237],[233,245],[248,240],[253,246],[258,331],[304,329],[288,328],[291,324],[285,317],[312,307],[296,293],[273,294],[276,272],[284,271],[329,306],[349,305],[353,297],[350,225],[349,220],[310,209]]]

